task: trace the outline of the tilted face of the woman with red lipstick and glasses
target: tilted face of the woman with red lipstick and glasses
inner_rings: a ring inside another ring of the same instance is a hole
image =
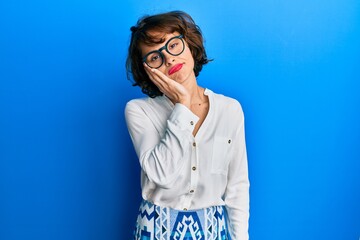
[[[164,39],[165,41],[151,46],[140,44],[142,57],[146,57],[148,65],[157,67],[162,61],[162,65],[157,69],[179,83],[191,78],[195,79],[194,59],[185,39],[179,37],[178,32],[170,34],[154,32],[151,35],[155,39]],[[184,48],[182,47],[183,43]]]

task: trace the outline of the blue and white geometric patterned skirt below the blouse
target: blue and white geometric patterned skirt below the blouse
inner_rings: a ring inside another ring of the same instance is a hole
[[[134,240],[231,240],[224,206],[181,211],[146,200],[140,205]]]

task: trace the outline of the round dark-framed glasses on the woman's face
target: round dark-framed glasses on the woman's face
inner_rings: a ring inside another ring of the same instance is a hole
[[[159,48],[159,50],[151,51],[146,54],[143,58],[143,62],[151,68],[161,67],[165,58],[161,51],[164,49],[172,56],[179,56],[182,54],[185,49],[183,35],[170,38],[169,41],[166,42],[165,46]]]

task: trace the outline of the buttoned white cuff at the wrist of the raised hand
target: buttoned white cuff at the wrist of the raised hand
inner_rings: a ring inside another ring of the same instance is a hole
[[[194,130],[199,117],[181,103],[176,103],[169,121],[180,129]]]

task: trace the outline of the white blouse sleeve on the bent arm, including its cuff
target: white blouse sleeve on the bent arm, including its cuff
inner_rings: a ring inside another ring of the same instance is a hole
[[[164,135],[160,136],[150,119],[155,114],[146,113],[132,101],[125,107],[126,123],[141,168],[150,181],[171,188],[185,161],[190,159],[192,132],[199,118],[177,103],[166,122]]]

